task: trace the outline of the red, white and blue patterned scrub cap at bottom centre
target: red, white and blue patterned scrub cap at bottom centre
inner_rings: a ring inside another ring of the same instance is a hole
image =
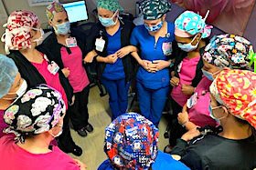
[[[144,116],[120,115],[105,129],[105,153],[112,165],[126,170],[148,169],[157,155],[158,129]]]

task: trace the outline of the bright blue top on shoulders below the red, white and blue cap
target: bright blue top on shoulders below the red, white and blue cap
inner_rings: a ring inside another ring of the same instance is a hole
[[[183,163],[176,161],[171,155],[165,154],[162,151],[158,151],[155,163],[152,165],[152,170],[189,170],[189,168]],[[98,170],[114,170],[109,159],[105,160]]]

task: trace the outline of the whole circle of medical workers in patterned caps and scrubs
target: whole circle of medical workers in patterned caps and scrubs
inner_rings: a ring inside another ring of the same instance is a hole
[[[34,13],[17,10],[8,17],[2,36],[7,56],[0,55],[4,169],[87,168],[65,153],[82,154],[69,121],[80,136],[93,132],[87,65],[94,62],[112,111],[104,140],[108,159],[99,170],[256,167],[251,42],[232,34],[209,40],[208,13],[185,11],[168,22],[166,0],[144,0],[140,10],[144,25],[135,26],[120,16],[118,0],[97,0],[99,22],[86,37],[56,2],[46,8],[47,38]],[[133,83],[139,114],[126,113]],[[163,153],[158,125],[168,97],[173,114]]]

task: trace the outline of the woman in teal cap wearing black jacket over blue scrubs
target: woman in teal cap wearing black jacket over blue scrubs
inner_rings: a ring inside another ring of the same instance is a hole
[[[96,58],[101,83],[108,92],[112,110],[112,120],[126,113],[128,91],[133,78],[133,57],[130,55],[136,48],[130,45],[133,23],[119,19],[123,11],[118,0],[98,0],[97,10],[100,23],[92,26],[91,52],[85,62]]]

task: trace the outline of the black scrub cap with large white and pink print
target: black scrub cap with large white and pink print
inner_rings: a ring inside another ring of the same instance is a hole
[[[14,133],[17,140],[24,142],[27,135],[41,134],[57,125],[65,112],[60,93],[48,85],[39,85],[5,110],[5,133]]]

